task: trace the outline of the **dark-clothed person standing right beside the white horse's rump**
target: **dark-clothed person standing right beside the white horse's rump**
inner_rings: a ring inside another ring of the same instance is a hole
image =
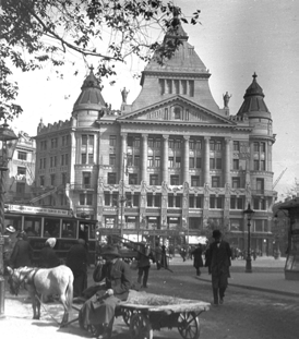
[[[79,239],[77,243],[72,245],[67,255],[67,266],[69,266],[74,275],[73,295],[81,296],[86,289],[87,275],[87,251],[85,249],[85,240]]]

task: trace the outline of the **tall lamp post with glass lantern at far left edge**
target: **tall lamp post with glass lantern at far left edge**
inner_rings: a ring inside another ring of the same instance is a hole
[[[7,121],[0,126],[0,317],[4,315],[4,186],[5,186],[5,171],[8,164],[12,159],[17,136],[9,129]]]

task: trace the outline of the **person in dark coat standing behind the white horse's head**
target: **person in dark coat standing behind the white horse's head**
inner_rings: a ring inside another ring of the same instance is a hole
[[[12,268],[32,266],[33,264],[33,247],[28,241],[26,232],[21,231],[17,234],[17,242],[14,245],[10,265]]]

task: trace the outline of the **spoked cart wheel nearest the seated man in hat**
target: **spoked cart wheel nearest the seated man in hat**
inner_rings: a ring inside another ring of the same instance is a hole
[[[142,313],[132,315],[130,335],[131,339],[153,339],[153,328],[146,315]]]

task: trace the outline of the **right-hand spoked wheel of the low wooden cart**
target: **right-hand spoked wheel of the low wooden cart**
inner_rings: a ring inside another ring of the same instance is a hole
[[[178,330],[183,339],[198,339],[201,335],[200,320],[194,312],[180,313]]]

